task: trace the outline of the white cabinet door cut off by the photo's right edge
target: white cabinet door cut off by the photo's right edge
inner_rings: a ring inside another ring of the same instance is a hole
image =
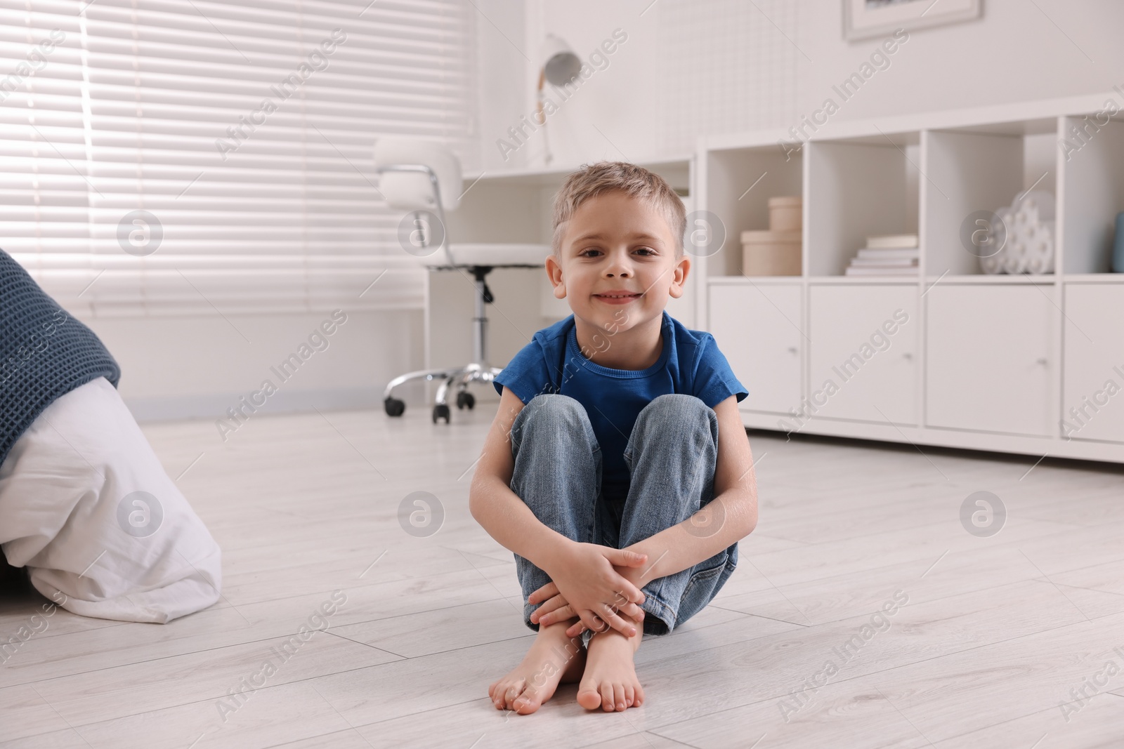
[[[1124,442],[1124,285],[1066,284],[1061,436]]]

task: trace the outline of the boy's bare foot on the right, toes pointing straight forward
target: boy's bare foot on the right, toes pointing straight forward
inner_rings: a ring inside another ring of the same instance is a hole
[[[636,678],[633,654],[644,637],[644,625],[625,637],[615,629],[597,632],[589,640],[586,672],[578,686],[578,704],[586,710],[601,707],[606,712],[638,707],[644,703],[644,688]]]

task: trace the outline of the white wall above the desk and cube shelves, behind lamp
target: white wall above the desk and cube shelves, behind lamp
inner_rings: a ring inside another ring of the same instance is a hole
[[[493,19],[509,20],[511,42],[479,19],[488,39],[481,51],[505,71],[509,88],[491,82],[487,107],[495,108],[480,131],[486,170],[544,163],[542,131],[507,162],[496,139],[534,106],[537,67],[515,47],[537,60],[532,53],[546,33],[582,57],[615,28],[628,35],[608,67],[549,118],[555,166],[678,156],[694,147],[695,135],[787,129],[819,108],[878,44],[843,39],[842,0],[526,0],[524,38],[514,36],[514,19]],[[985,0],[979,20],[910,33],[890,66],[833,120],[1107,91],[1124,84],[1122,28],[1124,3],[1115,0]],[[510,88],[520,74],[522,91]]]

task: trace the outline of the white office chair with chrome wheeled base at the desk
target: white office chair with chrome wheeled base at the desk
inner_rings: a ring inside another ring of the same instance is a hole
[[[374,166],[379,174],[379,191],[387,203],[413,213],[413,225],[404,221],[408,238],[402,238],[402,231],[399,231],[404,249],[418,256],[430,272],[470,273],[475,285],[472,362],[462,366],[408,372],[387,383],[382,394],[387,415],[400,417],[406,411],[406,403],[393,396],[396,387],[413,380],[441,381],[434,398],[433,422],[444,419],[447,424],[451,412],[446,398],[451,387],[456,387],[456,408],[472,409],[477,400],[469,392],[469,384],[490,383],[501,372],[499,367],[488,364],[486,304],[491,304],[493,296],[486,277],[497,267],[543,267],[550,248],[545,245],[511,244],[451,246],[445,209],[452,211],[460,204],[463,194],[461,163],[455,154],[439,144],[416,138],[380,138],[374,144]],[[436,209],[436,214],[429,210],[432,208]],[[439,235],[437,240],[436,235]],[[434,248],[436,241],[439,245]]]

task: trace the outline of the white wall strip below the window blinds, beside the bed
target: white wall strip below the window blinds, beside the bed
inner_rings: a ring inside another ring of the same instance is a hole
[[[387,382],[422,367],[422,313],[350,312],[347,322],[326,337],[327,348],[314,351],[282,382],[270,367],[278,367],[290,354],[300,354],[301,344],[329,317],[328,312],[301,312],[82,322],[120,365],[118,391],[139,421],[215,421],[224,418],[227,409],[237,408],[242,396],[260,390],[264,380],[273,383],[277,393],[264,399],[259,413],[314,407],[321,411],[381,409]],[[417,402],[420,390],[402,395]]]

